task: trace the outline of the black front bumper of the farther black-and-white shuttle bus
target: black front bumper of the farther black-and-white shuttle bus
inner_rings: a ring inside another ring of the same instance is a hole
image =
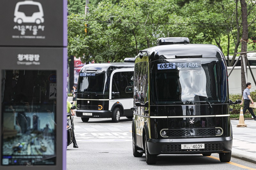
[[[92,116],[84,116],[83,113],[92,113]],[[84,118],[111,118],[111,110],[76,110],[77,117]]]

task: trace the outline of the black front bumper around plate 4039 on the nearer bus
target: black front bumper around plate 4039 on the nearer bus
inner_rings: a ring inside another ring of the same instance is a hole
[[[204,149],[181,149],[181,144],[204,144]],[[233,137],[189,138],[189,139],[147,139],[150,154],[202,154],[231,152]]]

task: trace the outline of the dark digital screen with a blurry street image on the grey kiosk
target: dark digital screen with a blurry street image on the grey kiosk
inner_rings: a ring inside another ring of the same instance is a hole
[[[56,70],[1,74],[1,165],[56,165]]]

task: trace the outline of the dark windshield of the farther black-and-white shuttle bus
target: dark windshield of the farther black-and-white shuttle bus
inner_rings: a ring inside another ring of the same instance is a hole
[[[109,93],[106,86],[107,75],[103,72],[80,72],[78,78],[78,93]]]

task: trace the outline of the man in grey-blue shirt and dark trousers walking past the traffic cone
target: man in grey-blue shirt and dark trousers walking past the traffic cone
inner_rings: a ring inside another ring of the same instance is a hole
[[[256,121],[256,116],[254,115],[253,110],[250,107],[250,101],[252,102],[252,104],[254,103],[251,96],[250,96],[250,88],[252,88],[252,84],[251,83],[246,83],[246,89],[244,89],[242,103],[240,103],[240,105],[242,105],[243,101],[244,101],[244,108],[243,108],[244,114],[245,114],[246,110],[248,109],[250,114],[252,115],[252,117]]]

